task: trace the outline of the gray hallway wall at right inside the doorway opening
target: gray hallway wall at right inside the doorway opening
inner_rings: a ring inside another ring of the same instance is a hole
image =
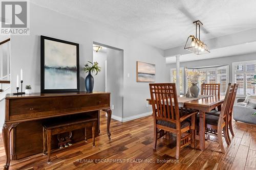
[[[106,49],[106,91],[111,92],[113,115],[123,117],[123,51]]]

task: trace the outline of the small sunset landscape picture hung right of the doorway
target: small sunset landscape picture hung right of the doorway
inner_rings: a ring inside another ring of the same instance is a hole
[[[155,64],[137,61],[137,82],[155,82]]]

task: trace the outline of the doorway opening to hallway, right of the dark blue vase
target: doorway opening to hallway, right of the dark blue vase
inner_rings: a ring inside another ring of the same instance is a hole
[[[123,50],[93,42],[93,62],[101,71],[94,76],[94,91],[111,93],[113,118],[123,117]]]

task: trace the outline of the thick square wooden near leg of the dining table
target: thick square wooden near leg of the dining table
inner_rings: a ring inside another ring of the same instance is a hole
[[[200,122],[199,122],[199,149],[201,151],[204,151],[205,149],[205,112],[204,111],[199,111],[199,117],[200,117]]]

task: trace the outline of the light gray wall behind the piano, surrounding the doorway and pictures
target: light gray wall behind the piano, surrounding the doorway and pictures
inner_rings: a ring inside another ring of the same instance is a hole
[[[87,61],[93,61],[93,41],[123,49],[124,94],[123,116],[129,117],[151,111],[146,107],[150,97],[148,83],[136,82],[136,61],[156,64],[156,81],[164,82],[165,58],[163,51],[131,38],[92,26],[78,19],[30,4],[30,36],[12,36],[11,81],[15,81],[20,68],[24,71],[24,84],[33,92],[40,92],[40,35],[79,43],[80,69]],[[127,78],[127,73],[131,77]],[[80,73],[80,90],[84,91],[84,78]],[[15,91],[15,83],[11,84]]]

